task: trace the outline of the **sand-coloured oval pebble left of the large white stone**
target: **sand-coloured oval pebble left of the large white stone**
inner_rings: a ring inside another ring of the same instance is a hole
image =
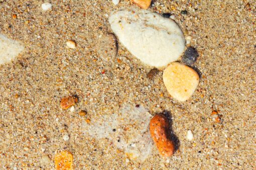
[[[112,33],[102,35],[98,39],[96,50],[103,60],[111,61],[117,53],[116,37]]]

